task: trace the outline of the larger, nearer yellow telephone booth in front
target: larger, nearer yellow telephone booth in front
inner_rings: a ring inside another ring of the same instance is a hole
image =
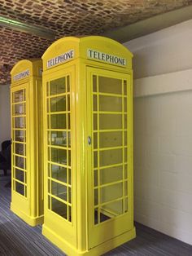
[[[135,237],[132,57],[94,36],[61,38],[42,56],[42,232],[72,256]]]

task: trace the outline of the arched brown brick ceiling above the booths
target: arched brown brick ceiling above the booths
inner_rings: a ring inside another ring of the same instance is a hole
[[[0,0],[0,15],[68,35],[99,35],[154,15],[192,4],[192,0]],[[40,58],[53,40],[0,24],[0,84],[10,82],[12,66]]]

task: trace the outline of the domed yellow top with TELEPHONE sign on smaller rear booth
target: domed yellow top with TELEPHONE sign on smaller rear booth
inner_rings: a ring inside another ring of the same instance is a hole
[[[41,59],[20,60],[11,69],[11,84],[28,80],[30,77],[41,77]]]

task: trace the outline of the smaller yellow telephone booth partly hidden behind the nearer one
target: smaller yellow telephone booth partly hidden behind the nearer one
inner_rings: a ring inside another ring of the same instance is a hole
[[[41,73],[41,60],[11,70],[11,210],[31,226],[43,221]]]

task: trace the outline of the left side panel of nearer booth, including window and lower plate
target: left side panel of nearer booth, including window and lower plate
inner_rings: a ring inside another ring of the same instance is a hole
[[[70,236],[67,241],[74,244],[76,232],[74,230],[76,216],[72,193],[75,189],[72,183],[74,161],[72,160],[72,70],[62,72],[58,77],[50,77],[46,81],[46,96],[44,111],[46,110],[46,172],[45,180],[46,219],[53,219],[45,226],[52,232],[62,236],[68,230]],[[73,156],[75,159],[75,155]],[[56,229],[56,225],[59,229]],[[59,234],[60,233],[60,234]]]

